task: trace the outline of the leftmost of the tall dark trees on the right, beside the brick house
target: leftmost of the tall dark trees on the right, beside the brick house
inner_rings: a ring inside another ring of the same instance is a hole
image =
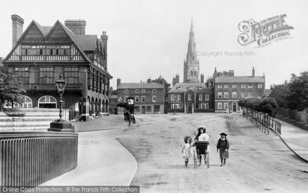
[[[288,107],[288,96],[290,96],[291,91],[288,83],[285,81],[284,84],[274,84],[271,85],[272,93],[269,97],[275,98],[279,107]]]

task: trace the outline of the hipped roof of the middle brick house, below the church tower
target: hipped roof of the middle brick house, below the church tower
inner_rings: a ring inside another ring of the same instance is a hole
[[[211,93],[205,83],[177,83],[168,93]]]

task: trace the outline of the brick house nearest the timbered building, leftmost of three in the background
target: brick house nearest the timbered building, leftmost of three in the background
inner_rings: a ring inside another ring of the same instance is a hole
[[[151,83],[122,83],[117,80],[117,94],[122,102],[128,97],[134,98],[135,114],[163,114],[164,113],[164,84]]]

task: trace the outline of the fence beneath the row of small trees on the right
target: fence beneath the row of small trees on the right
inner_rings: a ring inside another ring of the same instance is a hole
[[[273,117],[268,116],[266,113],[244,108],[243,116],[251,121],[252,124],[258,127],[260,130],[262,128],[264,133],[267,131],[267,134],[269,134],[269,130],[272,130],[275,134],[281,134],[281,122],[275,120]]]

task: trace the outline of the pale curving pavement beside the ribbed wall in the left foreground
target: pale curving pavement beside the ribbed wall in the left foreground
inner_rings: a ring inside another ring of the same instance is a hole
[[[106,134],[106,130],[121,133],[129,129],[128,122],[122,119],[123,116],[110,115],[88,122],[72,121],[75,131],[79,132],[78,166],[41,186],[130,185],[137,162],[116,139]],[[138,122],[130,128],[137,126]]]

